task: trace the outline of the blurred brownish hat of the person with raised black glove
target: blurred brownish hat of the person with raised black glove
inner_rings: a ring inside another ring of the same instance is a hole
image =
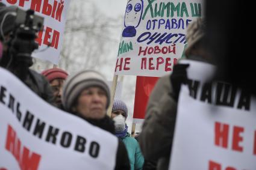
[[[205,35],[205,28],[205,20],[202,18],[196,19],[187,27],[187,48],[185,51],[186,55],[190,52],[192,47]]]

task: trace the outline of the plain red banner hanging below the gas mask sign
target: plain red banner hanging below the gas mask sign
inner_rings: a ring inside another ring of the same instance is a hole
[[[133,118],[145,118],[146,105],[158,79],[159,77],[137,76]]]

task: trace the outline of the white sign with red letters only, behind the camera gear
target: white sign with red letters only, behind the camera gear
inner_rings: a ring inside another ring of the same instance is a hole
[[[70,0],[3,0],[6,5],[16,5],[23,10],[34,10],[44,17],[43,32],[39,32],[39,49],[32,56],[58,64]]]

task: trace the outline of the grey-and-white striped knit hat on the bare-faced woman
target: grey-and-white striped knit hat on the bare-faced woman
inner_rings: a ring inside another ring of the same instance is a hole
[[[80,93],[89,87],[100,87],[106,92],[108,108],[110,104],[110,89],[105,77],[98,73],[98,71],[84,70],[67,77],[66,82],[64,82],[63,94],[61,96],[64,109],[70,111]]]

